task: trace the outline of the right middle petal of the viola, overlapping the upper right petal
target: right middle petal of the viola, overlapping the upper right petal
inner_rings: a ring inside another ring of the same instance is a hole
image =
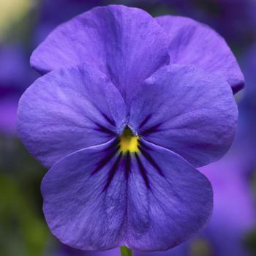
[[[237,117],[225,80],[197,67],[174,64],[138,87],[129,125],[146,140],[202,166],[230,148]]]

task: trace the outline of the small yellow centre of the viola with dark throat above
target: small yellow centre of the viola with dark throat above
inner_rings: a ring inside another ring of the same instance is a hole
[[[119,136],[120,140],[120,151],[125,154],[128,151],[130,153],[135,153],[139,151],[139,136],[133,135],[129,127],[124,128],[124,132]]]

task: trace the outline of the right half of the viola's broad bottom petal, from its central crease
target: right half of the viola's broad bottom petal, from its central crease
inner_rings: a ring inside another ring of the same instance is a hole
[[[211,184],[182,157],[140,140],[128,182],[127,246],[173,248],[202,229],[213,208]]]

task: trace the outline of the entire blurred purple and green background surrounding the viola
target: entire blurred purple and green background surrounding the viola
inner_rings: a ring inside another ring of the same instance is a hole
[[[233,49],[246,88],[236,95],[236,140],[219,162],[200,168],[214,187],[211,222],[167,252],[140,256],[256,255],[256,0],[0,0],[0,256],[103,256],[60,244],[42,214],[46,170],[17,137],[18,99],[39,75],[29,56],[48,33],[74,15],[105,4],[140,7],[153,16],[184,15],[216,29]]]

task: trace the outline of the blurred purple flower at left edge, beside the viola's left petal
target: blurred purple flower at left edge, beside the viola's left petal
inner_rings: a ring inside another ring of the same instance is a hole
[[[0,130],[15,133],[18,99],[37,77],[28,64],[29,59],[19,45],[0,48]]]

